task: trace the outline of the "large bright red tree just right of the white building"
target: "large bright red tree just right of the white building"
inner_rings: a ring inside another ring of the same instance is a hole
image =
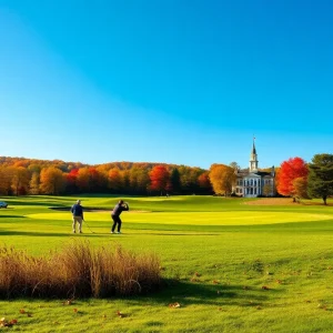
[[[309,169],[301,158],[291,158],[281,163],[279,171],[278,192],[283,195],[292,196],[296,201],[294,180],[307,178]]]

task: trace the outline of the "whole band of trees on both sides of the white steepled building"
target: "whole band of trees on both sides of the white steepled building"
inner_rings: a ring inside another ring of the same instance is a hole
[[[89,165],[60,160],[44,161],[0,157],[0,194],[110,193],[132,195],[232,195],[236,162],[195,167],[112,162]],[[276,168],[278,195],[326,199],[333,195],[333,154],[315,154],[310,163],[290,158]],[[261,171],[268,171],[261,169]]]

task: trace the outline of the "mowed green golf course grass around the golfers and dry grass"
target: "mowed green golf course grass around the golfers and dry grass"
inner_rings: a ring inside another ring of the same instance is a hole
[[[123,234],[112,235],[110,211],[118,198],[91,195],[80,199],[84,208],[100,209],[84,213],[94,233],[83,224],[84,233],[73,235],[69,208],[75,199],[2,198],[10,206],[0,211],[1,245],[48,255],[78,239],[92,246],[121,244],[157,253],[165,286],[145,296],[70,305],[2,300],[0,317],[18,320],[11,331],[332,332],[332,199],[323,206],[196,195],[125,198],[131,211],[122,214]],[[180,307],[169,306],[175,303]]]

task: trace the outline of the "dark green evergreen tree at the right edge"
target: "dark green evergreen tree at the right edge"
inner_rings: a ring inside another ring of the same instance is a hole
[[[315,154],[309,170],[309,195],[322,198],[327,204],[327,196],[333,195],[333,154]]]

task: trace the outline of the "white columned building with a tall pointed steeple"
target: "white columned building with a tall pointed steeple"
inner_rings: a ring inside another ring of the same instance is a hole
[[[236,182],[233,192],[244,198],[256,198],[259,195],[275,195],[275,170],[272,167],[271,172],[260,171],[258,169],[258,154],[254,145],[250,154],[250,168],[236,170]]]

